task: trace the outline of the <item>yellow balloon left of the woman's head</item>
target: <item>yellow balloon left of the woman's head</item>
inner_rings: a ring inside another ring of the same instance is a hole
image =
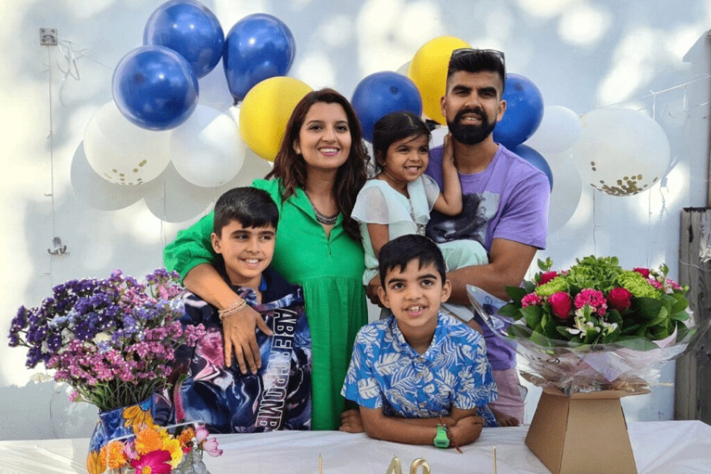
[[[269,77],[247,92],[240,108],[240,131],[247,146],[274,161],[294,107],[311,87],[294,77]]]

